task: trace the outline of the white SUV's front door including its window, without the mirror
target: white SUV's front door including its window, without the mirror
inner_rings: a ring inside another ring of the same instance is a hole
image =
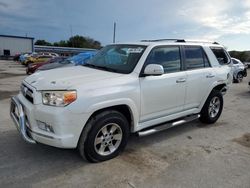
[[[181,62],[180,47],[178,46],[162,46],[152,49],[145,65],[160,64],[164,68],[164,74],[140,78],[140,122],[161,118],[183,110],[187,75],[182,71]]]

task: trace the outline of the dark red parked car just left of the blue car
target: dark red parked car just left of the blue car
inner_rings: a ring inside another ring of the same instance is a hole
[[[66,59],[66,57],[57,56],[57,57],[53,57],[53,58],[51,58],[51,59],[49,59],[48,61],[45,61],[45,62],[31,63],[26,68],[26,73],[27,74],[33,74],[39,67],[41,67],[43,65],[58,63],[58,62],[64,61],[65,59]]]

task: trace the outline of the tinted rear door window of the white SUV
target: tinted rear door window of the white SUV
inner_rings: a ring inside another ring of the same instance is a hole
[[[210,67],[207,55],[200,46],[185,46],[186,69]]]

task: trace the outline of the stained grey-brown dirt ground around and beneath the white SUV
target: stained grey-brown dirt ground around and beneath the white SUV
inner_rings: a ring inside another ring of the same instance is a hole
[[[24,74],[21,65],[0,61],[0,187],[250,187],[250,76],[230,87],[214,125],[194,121],[132,135],[119,157],[91,164],[75,150],[21,139],[9,117],[9,97]]]

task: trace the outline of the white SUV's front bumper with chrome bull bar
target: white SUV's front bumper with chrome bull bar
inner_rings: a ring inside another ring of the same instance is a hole
[[[28,143],[76,148],[89,114],[72,113],[66,108],[43,104],[34,105],[19,94],[11,98],[10,116],[22,138]],[[54,132],[42,130],[38,122],[52,126]]]

